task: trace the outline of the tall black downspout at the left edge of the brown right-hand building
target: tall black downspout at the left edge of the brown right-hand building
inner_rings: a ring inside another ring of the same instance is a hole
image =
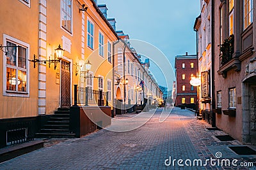
[[[212,10],[211,10],[211,17],[212,17],[212,20],[211,20],[211,50],[212,50],[212,64],[211,64],[211,78],[212,78],[212,110],[215,109],[215,105],[216,105],[216,101],[215,101],[215,72],[214,72],[214,1],[212,0],[211,1],[212,3]],[[212,113],[212,127],[216,127],[216,113]]]

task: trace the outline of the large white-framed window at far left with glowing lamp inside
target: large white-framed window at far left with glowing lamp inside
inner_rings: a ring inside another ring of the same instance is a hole
[[[29,97],[29,45],[4,34],[4,96]]]

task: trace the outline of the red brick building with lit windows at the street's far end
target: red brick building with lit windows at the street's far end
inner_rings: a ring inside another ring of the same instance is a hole
[[[196,55],[177,55],[175,57],[175,75],[176,75],[176,103],[175,106],[185,105],[189,108],[195,108],[197,101],[196,87],[193,87],[189,81],[191,77],[197,75],[197,57]]]

